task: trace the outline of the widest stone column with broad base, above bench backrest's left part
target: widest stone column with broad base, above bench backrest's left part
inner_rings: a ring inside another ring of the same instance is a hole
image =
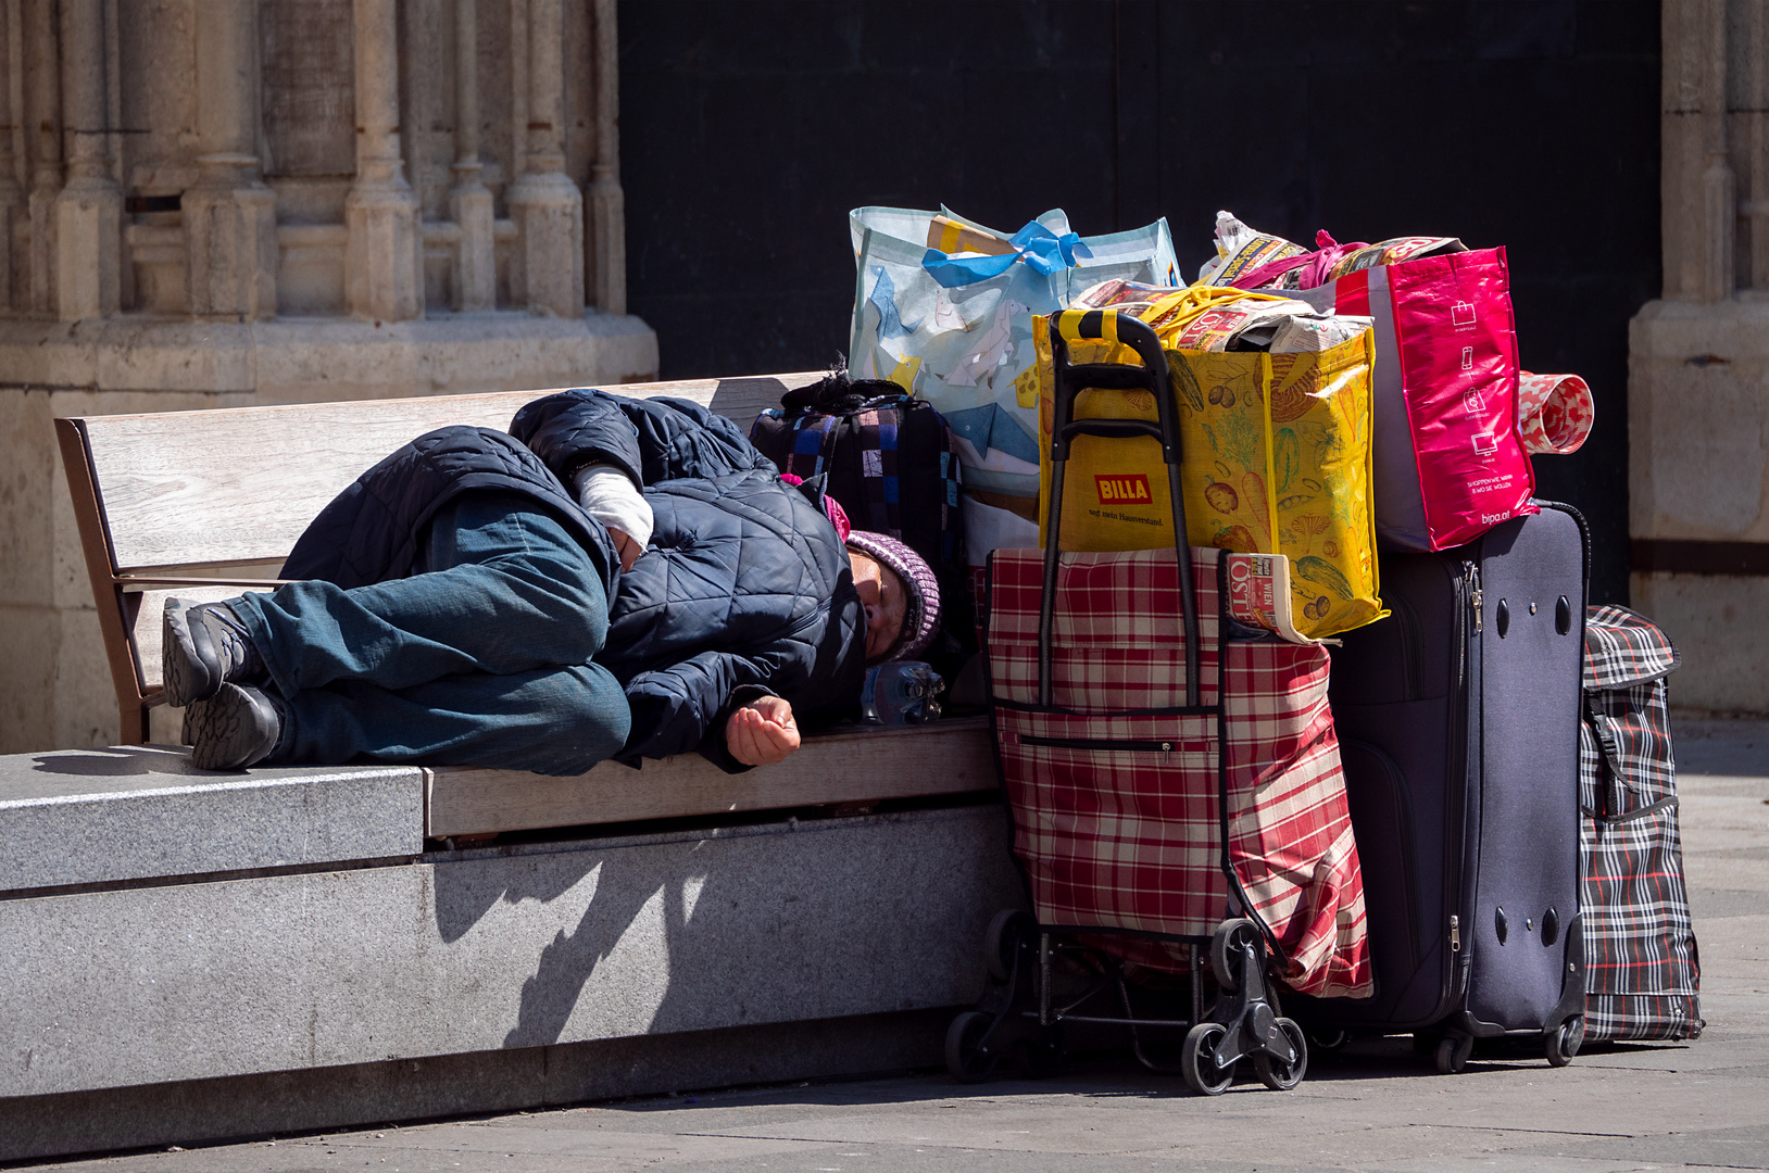
[[[186,304],[196,317],[276,317],[276,193],[258,173],[258,5],[195,0],[196,182],[184,212]]]

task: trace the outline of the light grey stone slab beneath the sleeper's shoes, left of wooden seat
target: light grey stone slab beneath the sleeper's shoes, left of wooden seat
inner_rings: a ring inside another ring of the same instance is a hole
[[[288,766],[212,773],[129,745],[0,757],[0,893],[414,856],[425,771]]]

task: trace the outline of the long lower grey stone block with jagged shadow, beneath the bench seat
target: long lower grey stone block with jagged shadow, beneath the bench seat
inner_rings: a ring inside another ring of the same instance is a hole
[[[971,1001],[999,805],[7,901],[0,1097]]]

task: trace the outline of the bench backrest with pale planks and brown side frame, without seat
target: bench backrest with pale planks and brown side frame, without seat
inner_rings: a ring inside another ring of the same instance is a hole
[[[621,386],[704,403],[745,430],[821,372]],[[506,428],[548,391],[57,419],[122,740],[147,740],[161,702],[168,593],[228,598],[271,587],[308,522],[400,444],[448,425]]]

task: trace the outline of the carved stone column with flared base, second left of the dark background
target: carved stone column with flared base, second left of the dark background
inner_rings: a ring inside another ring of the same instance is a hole
[[[563,318],[584,315],[584,193],[564,173],[563,0],[527,0],[529,126],[524,172],[509,188],[517,221],[511,295]]]

